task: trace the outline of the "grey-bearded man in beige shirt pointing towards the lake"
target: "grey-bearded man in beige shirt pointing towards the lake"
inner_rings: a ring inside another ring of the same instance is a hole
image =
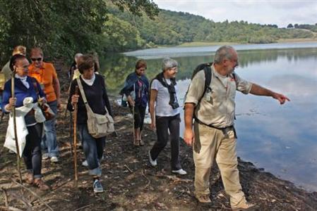
[[[243,94],[272,96],[281,104],[289,98],[241,79],[234,73],[237,65],[237,51],[232,46],[222,46],[215,53],[210,87],[205,94],[204,71],[193,77],[185,99],[184,141],[189,146],[193,145],[196,198],[201,203],[210,203],[210,168],[216,160],[232,210],[251,210],[254,205],[246,202],[237,168],[234,130],[236,90]]]

